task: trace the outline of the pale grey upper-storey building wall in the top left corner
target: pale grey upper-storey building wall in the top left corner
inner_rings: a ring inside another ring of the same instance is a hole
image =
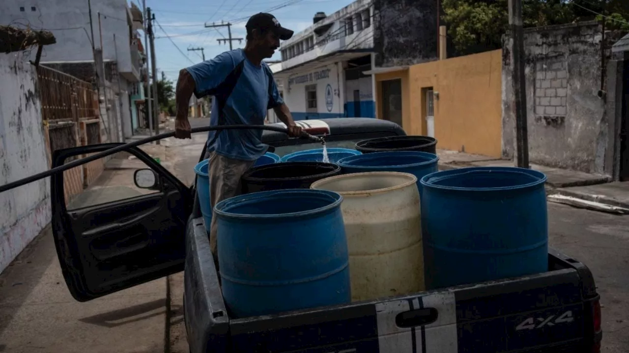
[[[35,7],[35,11],[31,11],[31,6]],[[131,72],[131,42],[126,6],[126,0],[92,1],[94,45],[96,48],[100,46],[98,26],[100,12],[103,58],[116,60],[113,39],[115,33],[118,68],[121,72]],[[25,11],[20,11],[20,7],[25,8]],[[45,46],[42,62],[93,60],[87,1],[47,0],[31,4],[21,1],[0,1],[0,23],[7,24],[11,21],[30,24],[33,28],[43,28],[55,35],[57,43]],[[61,28],[61,30],[55,28]],[[36,52],[36,50],[31,50],[31,60],[35,60]]]

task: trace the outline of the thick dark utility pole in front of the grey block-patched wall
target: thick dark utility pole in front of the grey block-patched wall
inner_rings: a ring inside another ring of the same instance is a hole
[[[509,27],[511,30],[511,85],[515,97],[516,166],[529,168],[528,126],[526,122],[526,78],[524,31],[522,28],[522,0],[509,0]]]

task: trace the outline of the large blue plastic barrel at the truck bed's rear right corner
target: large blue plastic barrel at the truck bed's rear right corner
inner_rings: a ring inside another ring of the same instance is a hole
[[[426,289],[548,270],[546,176],[508,167],[421,179]]]

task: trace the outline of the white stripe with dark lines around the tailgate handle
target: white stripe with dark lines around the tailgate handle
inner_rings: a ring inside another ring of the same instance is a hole
[[[399,313],[419,308],[437,309],[437,321],[406,329],[396,325]],[[380,353],[457,353],[459,350],[454,293],[377,303],[376,320]]]

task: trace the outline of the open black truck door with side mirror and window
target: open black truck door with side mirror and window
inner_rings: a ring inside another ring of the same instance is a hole
[[[121,145],[61,149],[53,154],[52,166]],[[78,301],[92,300],[184,269],[186,222],[192,209],[193,190],[141,149],[130,147],[122,153],[135,156],[134,161],[145,165],[128,170],[129,178],[134,179],[128,183],[135,182],[135,190],[97,189],[98,197],[66,204],[64,178],[71,173],[50,177],[57,256],[65,283]],[[116,161],[115,156],[112,160]],[[102,159],[91,163],[96,162],[104,165]],[[103,171],[106,172],[107,169]]]

